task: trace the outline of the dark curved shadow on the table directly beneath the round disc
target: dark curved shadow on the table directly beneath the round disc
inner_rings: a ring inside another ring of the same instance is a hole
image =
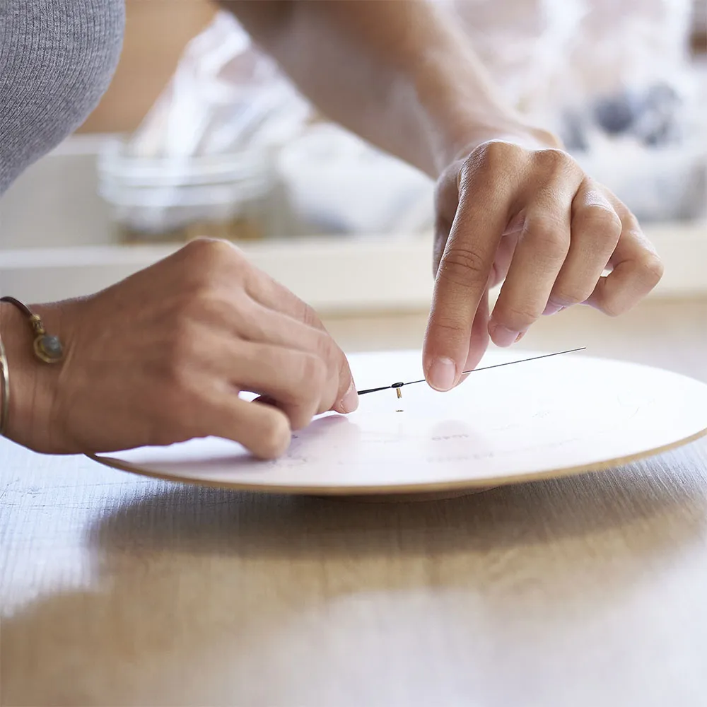
[[[469,558],[535,547],[550,556],[549,546],[612,532],[612,551],[640,554],[641,548],[670,551],[672,540],[679,540],[670,530],[682,525],[672,527],[670,519],[678,521],[685,506],[703,503],[704,493],[698,479],[675,464],[661,465],[660,457],[611,472],[429,502],[366,503],[162,484],[157,493],[105,515],[88,542],[109,556],[134,547],[141,553],[297,562]],[[650,532],[655,525],[662,532]],[[600,561],[610,559],[604,554]],[[571,562],[562,558],[568,574]]]

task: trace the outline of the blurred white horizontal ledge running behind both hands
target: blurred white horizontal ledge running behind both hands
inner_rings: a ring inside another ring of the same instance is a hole
[[[707,223],[647,228],[665,262],[653,296],[707,295]],[[98,291],[177,246],[97,245],[0,251],[3,291],[49,301]],[[432,292],[431,238],[307,238],[243,243],[257,267],[322,312],[421,310]]]

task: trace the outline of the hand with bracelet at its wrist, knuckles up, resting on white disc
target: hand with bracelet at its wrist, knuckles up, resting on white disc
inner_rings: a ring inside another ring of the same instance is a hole
[[[358,407],[315,312],[225,241],[192,241],[98,294],[33,309],[62,338],[62,363],[33,358],[18,312],[4,312],[2,333],[8,437],[39,452],[217,436],[272,458],[315,414]]]

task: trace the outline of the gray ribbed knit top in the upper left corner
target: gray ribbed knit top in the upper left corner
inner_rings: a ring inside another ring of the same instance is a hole
[[[123,0],[0,0],[0,195],[93,110],[123,29]]]

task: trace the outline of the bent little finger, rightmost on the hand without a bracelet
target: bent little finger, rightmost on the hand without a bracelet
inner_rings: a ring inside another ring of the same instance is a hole
[[[612,317],[623,314],[660,282],[663,265],[645,238],[636,217],[620,201],[614,208],[621,219],[621,237],[609,259],[611,272],[600,277],[586,302]]]

